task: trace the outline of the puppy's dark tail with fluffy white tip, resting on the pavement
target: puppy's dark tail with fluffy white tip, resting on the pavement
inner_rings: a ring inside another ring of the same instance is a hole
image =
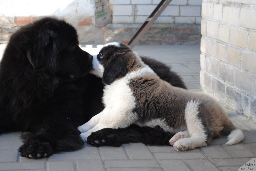
[[[228,135],[227,145],[237,144],[244,139],[244,134],[242,130],[236,129],[236,127],[231,123],[231,121],[227,121],[224,124],[224,129],[221,131],[222,135]]]

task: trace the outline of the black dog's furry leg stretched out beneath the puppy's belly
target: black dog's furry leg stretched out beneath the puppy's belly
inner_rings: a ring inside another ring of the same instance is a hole
[[[155,128],[130,125],[128,128],[111,129],[105,128],[93,132],[87,138],[87,144],[93,146],[115,146],[119,147],[126,143],[141,142],[145,145],[170,145],[172,138],[170,132],[164,132],[160,126]]]

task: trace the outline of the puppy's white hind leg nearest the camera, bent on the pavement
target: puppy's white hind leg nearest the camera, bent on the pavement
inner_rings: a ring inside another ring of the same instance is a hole
[[[207,135],[204,125],[198,117],[198,105],[200,102],[191,100],[185,109],[185,120],[188,128],[189,138],[177,140],[173,147],[175,150],[191,150],[197,147],[206,146]]]

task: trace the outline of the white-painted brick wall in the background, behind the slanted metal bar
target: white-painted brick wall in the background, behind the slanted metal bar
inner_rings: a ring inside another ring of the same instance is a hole
[[[109,0],[113,23],[144,23],[160,1]],[[202,0],[172,0],[155,23],[200,24],[201,4]],[[124,19],[124,16],[129,17]]]

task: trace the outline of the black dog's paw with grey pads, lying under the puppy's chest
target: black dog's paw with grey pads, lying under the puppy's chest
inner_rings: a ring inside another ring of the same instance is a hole
[[[95,147],[100,146],[114,146],[114,147],[120,147],[123,142],[119,140],[117,134],[111,134],[112,129],[106,128],[103,130],[99,130],[96,132],[92,132],[92,134],[87,137],[87,144],[90,144]]]

